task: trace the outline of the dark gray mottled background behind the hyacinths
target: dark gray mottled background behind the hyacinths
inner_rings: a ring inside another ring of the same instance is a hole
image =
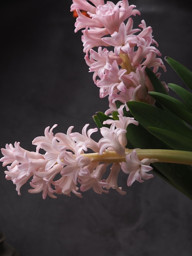
[[[153,28],[163,58],[170,56],[192,70],[192,1],[135,0],[141,19]],[[84,61],[81,32],[74,34],[69,0],[4,1],[0,8],[0,147],[31,141],[46,126],[55,132],[70,125],[80,132],[95,127],[92,115],[105,111],[107,98]],[[162,80],[181,80],[167,66]],[[60,195],[56,200],[17,195],[0,167],[0,230],[22,256],[190,256],[192,202],[159,177],[126,187],[127,195],[92,190],[80,199]]]

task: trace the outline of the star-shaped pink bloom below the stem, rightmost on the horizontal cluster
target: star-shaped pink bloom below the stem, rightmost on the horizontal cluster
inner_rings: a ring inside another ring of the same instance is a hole
[[[135,180],[138,182],[143,182],[144,180],[153,177],[152,174],[147,173],[153,169],[150,166],[150,159],[145,158],[140,161],[137,157],[136,150],[133,150],[132,153],[126,155],[125,159],[126,162],[121,163],[121,169],[124,173],[129,174],[127,179],[127,186],[131,186]]]

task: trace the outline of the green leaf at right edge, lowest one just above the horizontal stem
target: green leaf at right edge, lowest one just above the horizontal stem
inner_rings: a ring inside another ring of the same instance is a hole
[[[148,127],[148,131],[175,150],[192,151],[192,140],[175,132]]]

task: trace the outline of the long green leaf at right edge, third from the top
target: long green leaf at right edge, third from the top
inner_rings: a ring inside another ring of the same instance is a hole
[[[182,120],[192,125],[191,109],[184,102],[158,92],[149,92],[149,94],[156,101],[161,103],[165,108],[174,113],[174,115],[180,117]]]

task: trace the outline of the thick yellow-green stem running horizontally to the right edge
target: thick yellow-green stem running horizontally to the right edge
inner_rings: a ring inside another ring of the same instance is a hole
[[[138,159],[141,161],[144,158],[155,159],[154,162],[189,164],[192,165],[192,152],[181,150],[167,149],[135,149]],[[117,155],[115,151],[106,150],[102,155],[98,153],[82,154],[84,157],[89,157],[92,162],[109,162],[121,163],[126,162],[125,156],[132,153],[133,149],[126,149],[125,155]]]

